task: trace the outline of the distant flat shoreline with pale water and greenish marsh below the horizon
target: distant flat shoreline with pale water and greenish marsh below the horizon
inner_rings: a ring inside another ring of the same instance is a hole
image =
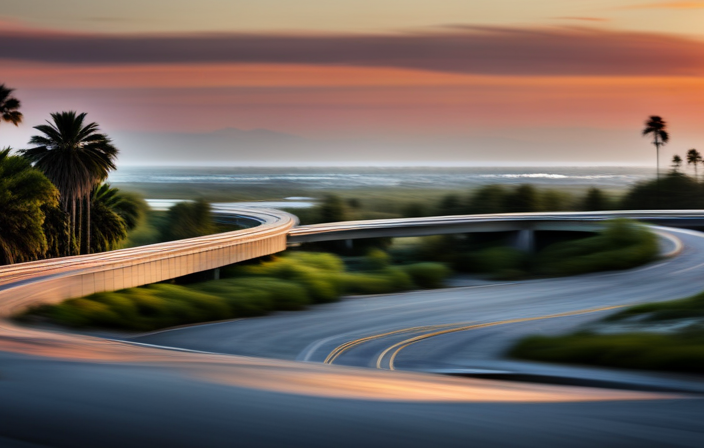
[[[109,182],[151,199],[233,202],[319,198],[326,193],[439,197],[487,184],[532,184],[578,193],[598,187],[620,193],[653,177],[651,168],[634,167],[123,167]]]

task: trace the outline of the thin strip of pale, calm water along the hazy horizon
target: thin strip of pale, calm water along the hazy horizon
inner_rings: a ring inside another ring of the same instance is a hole
[[[306,189],[360,187],[456,188],[490,183],[628,187],[653,177],[649,168],[171,168],[123,167],[110,182],[286,186]]]

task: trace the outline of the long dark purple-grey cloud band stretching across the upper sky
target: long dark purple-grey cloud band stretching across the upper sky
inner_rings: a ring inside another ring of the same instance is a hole
[[[704,75],[704,42],[592,28],[455,26],[378,35],[0,32],[0,59],[68,64],[267,63],[499,75]]]

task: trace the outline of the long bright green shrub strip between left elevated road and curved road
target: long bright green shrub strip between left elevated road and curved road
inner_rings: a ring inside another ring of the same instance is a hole
[[[72,327],[147,331],[209,320],[300,310],[344,294],[382,294],[442,286],[450,271],[438,263],[393,266],[374,252],[363,271],[350,272],[332,254],[292,252],[233,265],[222,279],[188,285],[154,284],[41,305],[21,319]]]

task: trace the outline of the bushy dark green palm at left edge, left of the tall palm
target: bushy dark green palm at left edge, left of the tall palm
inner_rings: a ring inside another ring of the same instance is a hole
[[[0,150],[0,264],[44,256],[43,208],[58,203],[59,192],[28,161]]]

